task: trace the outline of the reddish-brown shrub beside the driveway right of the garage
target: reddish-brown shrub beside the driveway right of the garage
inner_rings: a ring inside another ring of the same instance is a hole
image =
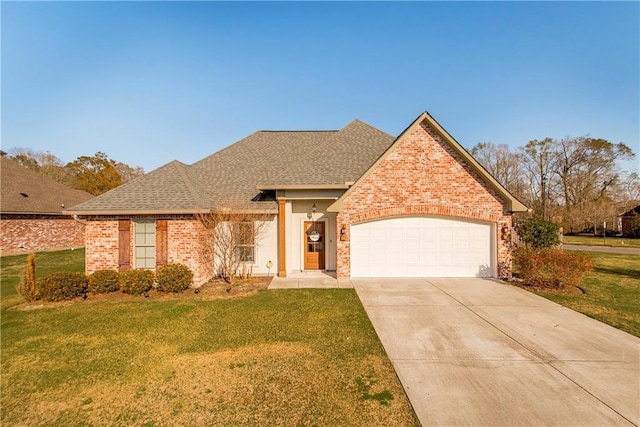
[[[593,263],[587,255],[556,248],[517,248],[513,260],[518,275],[526,283],[540,288],[578,286],[584,274],[593,270]]]

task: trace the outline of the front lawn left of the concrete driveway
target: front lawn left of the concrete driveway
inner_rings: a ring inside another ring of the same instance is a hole
[[[81,270],[76,255],[38,254],[38,275]],[[3,306],[23,262],[2,259]],[[418,424],[353,290],[5,307],[1,322],[3,425]]]

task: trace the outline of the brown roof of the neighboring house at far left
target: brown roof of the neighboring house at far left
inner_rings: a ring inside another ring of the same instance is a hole
[[[0,212],[4,215],[62,215],[64,208],[93,198],[0,156]]]

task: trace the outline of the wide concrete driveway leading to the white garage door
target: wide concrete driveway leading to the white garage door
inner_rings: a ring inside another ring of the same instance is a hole
[[[640,339],[485,279],[351,279],[424,426],[640,424]]]

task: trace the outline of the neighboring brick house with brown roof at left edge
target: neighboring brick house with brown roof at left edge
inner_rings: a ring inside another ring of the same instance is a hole
[[[93,195],[0,156],[0,251],[3,255],[84,246],[84,225],[65,208]]]

